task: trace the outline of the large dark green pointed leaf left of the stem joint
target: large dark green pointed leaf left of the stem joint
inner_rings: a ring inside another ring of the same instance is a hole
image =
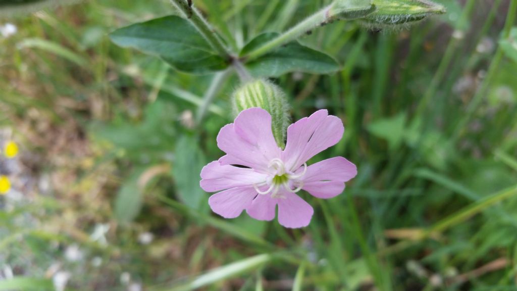
[[[132,24],[112,32],[110,38],[121,47],[157,55],[180,71],[205,74],[228,66],[196,28],[178,16]]]

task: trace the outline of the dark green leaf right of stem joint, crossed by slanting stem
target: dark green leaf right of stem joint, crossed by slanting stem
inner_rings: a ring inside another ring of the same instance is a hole
[[[264,33],[246,45],[240,52],[246,61],[246,54],[277,37],[278,33]],[[254,77],[279,77],[288,72],[300,71],[311,74],[329,74],[339,70],[339,64],[331,56],[290,42],[257,59],[246,63],[246,68]]]

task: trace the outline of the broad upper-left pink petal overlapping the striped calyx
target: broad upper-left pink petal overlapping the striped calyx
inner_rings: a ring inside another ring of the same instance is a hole
[[[217,146],[227,154],[219,160],[222,165],[237,164],[263,172],[281,153],[271,130],[271,115],[262,108],[243,110],[234,123],[221,128]]]

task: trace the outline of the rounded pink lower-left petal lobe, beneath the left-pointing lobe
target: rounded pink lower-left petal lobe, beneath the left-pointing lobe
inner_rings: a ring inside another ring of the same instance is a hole
[[[253,187],[237,187],[216,193],[208,198],[208,204],[215,213],[224,218],[235,218],[251,205],[258,195]]]

